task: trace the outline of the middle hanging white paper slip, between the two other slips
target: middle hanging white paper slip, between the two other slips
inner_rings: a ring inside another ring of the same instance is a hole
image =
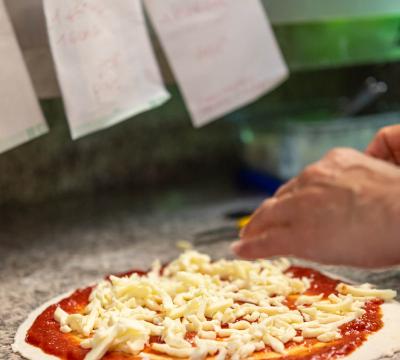
[[[140,0],[44,0],[72,137],[164,103]]]

